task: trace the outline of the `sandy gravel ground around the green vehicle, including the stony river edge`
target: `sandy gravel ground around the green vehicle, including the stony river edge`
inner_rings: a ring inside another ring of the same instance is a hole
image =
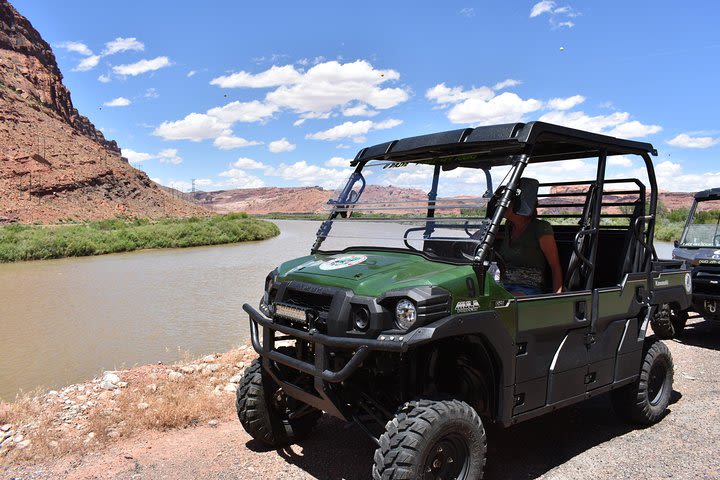
[[[674,392],[657,425],[638,429],[623,423],[607,395],[508,429],[490,425],[486,477],[718,478],[720,323],[693,319],[681,341],[667,344],[675,363]],[[19,443],[30,440],[24,448],[2,447],[7,450],[0,453],[0,477],[367,479],[376,446],[358,427],[328,415],[306,440],[282,450],[250,438],[235,417],[231,380],[253,358],[245,347],[123,370],[115,373],[119,379],[108,372],[103,376],[113,387],[101,387],[99,376],[0,404],[0,427],[9,423],[23,435]]]

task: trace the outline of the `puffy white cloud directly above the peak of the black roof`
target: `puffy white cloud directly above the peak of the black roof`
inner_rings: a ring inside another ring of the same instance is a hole
[[[478,125],[519,122],[526,113],[540,110],[542,106],[542,102],[534,98],[523,100],[515,93],[504,92],[490,100],[465,100],[450,109],[448,119],[453,123]]]

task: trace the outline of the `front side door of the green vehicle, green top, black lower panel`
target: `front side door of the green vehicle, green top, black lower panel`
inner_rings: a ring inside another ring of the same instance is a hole
[[[513,414],[585,393],[592,294],[517,299]]]

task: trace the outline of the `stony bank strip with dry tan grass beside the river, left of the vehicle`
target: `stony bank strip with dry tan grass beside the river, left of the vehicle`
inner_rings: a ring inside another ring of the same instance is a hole
[[[0,402],[0,464],[96,451],[150,431],[217,425],[235,415],[235,391],[256,358],[226,353],[105,371],[95,379]]]

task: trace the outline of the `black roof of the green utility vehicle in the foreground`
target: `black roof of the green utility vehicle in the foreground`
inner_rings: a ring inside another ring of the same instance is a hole
[[[607,155],[657,155],[649,144],[545,122],[506,123],[431,133],[363,148],[352,165],[368,160],[458,162],[469,167],[509,165],[512,155],[530,154],[530,163]]]

